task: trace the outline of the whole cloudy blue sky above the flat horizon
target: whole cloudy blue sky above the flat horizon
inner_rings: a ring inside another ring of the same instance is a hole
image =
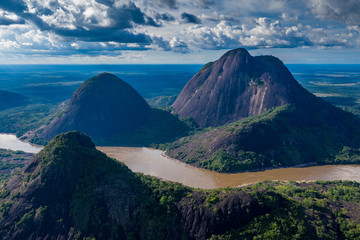
[[[360,64],[360,0],[1,0],[0,64]]]

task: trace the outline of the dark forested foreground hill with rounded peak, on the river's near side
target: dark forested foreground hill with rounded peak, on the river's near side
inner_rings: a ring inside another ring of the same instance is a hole
[[[198,190],[132,173],[78,132],[1,187],[1,239],[354,239],[360,185]]]

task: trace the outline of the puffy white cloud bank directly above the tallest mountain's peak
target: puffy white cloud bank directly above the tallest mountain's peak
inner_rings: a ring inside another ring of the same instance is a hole
[[[274,48],[309,46],[311,42],[299,27],[282,27],[279,21],[258,18],[253,26],[233,26],[222,21],[215,27],[192,26],[185,30],[189,41],[206,49],[226,49],[239,46],[249,48]]]

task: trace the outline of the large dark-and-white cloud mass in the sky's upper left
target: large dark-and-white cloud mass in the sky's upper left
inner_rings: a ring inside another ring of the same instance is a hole
[[[0,7],[14,11],[42,31],[53,32],[66,41],[151,44],[145,33],[132,31],[137,25],[159,27],[133,2],[16,0]]]

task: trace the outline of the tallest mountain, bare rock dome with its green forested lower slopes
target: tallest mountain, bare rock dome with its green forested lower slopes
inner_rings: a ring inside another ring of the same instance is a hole
[[[219,172],[304,163],[357,163],[359,119],[304,89],[277,58],[227,52],[205,65],[175,103],[201,127],[165,150]]]

